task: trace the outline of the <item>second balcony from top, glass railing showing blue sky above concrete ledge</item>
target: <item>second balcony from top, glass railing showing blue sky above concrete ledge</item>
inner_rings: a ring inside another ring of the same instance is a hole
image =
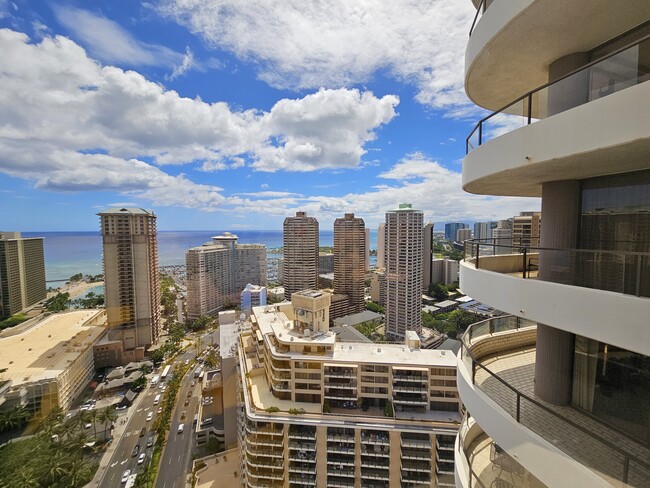
[[[649,46],[646,38],[616,51],[482,119],[466,140],[463,188],[540,196],[558,174],[609,174],[611,161],[620,172],[647,168],[650,73],[639,53]]]

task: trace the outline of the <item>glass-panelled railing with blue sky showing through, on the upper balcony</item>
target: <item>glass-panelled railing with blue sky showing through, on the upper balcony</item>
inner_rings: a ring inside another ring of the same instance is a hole
[[[485,0],[481,4],[485,5]],[[479,12],[481,12],[480,7],[477,10],[474,23],[478,20]],[[472,24],[472,30],[473,28],[474,24]],[[637,55],[637,51],[647,49],[648,42],[650,42],[650,36],[592,61],[558,80],[535,88],[514,102],[484,117],[467,136],[465,153],[469,154],[472,149],[481,144],[518,127],[532,124],[549,115],[564,112],[648,81],[650,79],[648,67],[643,64],[643,58]],[[556,93],[562,93],[564,87],[569,85],[572,87],[584,85],[586,93],[584,99],[572,104],[565,104],[562,107],[549,108],[548,101],[553,100]]]

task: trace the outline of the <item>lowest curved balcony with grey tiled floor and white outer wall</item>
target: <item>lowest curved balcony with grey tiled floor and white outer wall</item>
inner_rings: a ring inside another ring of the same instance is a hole
[[[650,449],[581,410],[536,397],[535,340],[536,326],[514,316],[467,329],[458,386],[468,411],[513,461],[548,486],[645,486]]]

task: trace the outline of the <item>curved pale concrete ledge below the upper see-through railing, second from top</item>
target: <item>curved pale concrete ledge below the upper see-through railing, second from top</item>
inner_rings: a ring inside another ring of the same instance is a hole
[[[521,127],[463,159],[463,188],[484,195],[541,196],[542,183],[647,169],[650,82]],[[552,141],[549,143],[549,141]]]

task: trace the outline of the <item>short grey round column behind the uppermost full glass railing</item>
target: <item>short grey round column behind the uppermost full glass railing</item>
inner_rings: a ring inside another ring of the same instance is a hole
[[[548,67],[548,81],[553,82],[589,63],[587,53],[573,53],[553,61]],[[586,103],[589,99],[589,73],[585,70],[548,87],[548,116]]]

